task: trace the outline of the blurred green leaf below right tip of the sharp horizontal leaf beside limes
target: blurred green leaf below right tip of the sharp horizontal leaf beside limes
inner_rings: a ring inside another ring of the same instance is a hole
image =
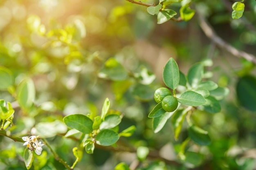
[[[207,111],[209,113],[219,113],[221,110],[220,102],[216,100],[214,97],[209,96],[205,98],[207,103],[199,106],[201,110]]]

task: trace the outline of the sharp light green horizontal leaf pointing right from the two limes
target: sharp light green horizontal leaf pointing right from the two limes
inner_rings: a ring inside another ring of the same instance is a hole
[[[194,91],[185,91],[182,93],[180,98],[178,98],[178,102],[188,106],[200,106],[206,104],[204,97]]]

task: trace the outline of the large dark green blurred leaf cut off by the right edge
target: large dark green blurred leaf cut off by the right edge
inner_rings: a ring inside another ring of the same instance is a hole
[[[256,111],[256,77],[246,75],[238,79],[236,94],[243,107]]]

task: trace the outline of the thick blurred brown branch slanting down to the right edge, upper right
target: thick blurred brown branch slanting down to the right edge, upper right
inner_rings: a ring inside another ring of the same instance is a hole
[[[246,53],[245,51],[239,51],[227,42],[225,42],[222,38],[220,38],[214,31],[213,28],[209,25],[209,23],[204,19],[204,17],[198,12],[198,18],[200,21],[200,26],[205,35],[211,39],[216,45],[220,48],[225,49],[227,52],[231,53],[236,57],[243,57],[246,60],[253,62],[256,64],[256,56]]]

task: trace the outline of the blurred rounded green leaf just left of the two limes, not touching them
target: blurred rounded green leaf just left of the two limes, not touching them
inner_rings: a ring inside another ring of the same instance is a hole
[[[149,86],[144,84],[137,84],[132,89],[132,95],[141,101],[149,101],[154,98],[155,90]]]

